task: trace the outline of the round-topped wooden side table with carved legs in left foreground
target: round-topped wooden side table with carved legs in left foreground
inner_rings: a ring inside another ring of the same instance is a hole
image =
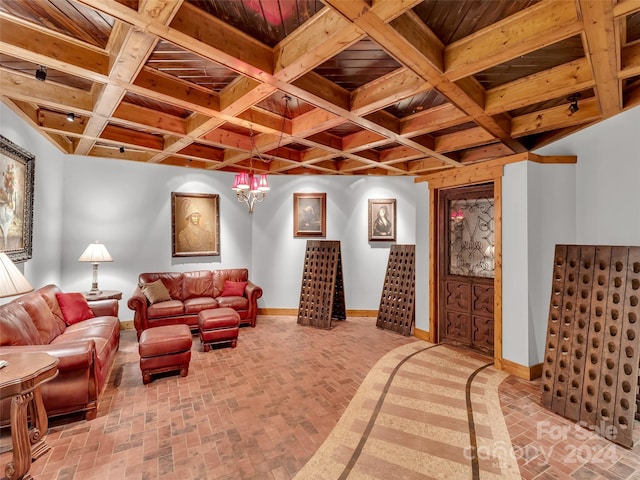
[[[6,353],[0,360],[9,362],[0,369],[0,399],[11,398],[13,446],[13,458],[4,466],[4,475],[8,479],[30,479],[31,462],[50,448],[43,439],[49,423],[40,385],[58,375],[59,360],[40,352]]]

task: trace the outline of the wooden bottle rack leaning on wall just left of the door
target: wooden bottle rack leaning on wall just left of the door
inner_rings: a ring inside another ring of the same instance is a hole
[[[415,245],[391,245],[376,325],[405,336],[415,321]]]

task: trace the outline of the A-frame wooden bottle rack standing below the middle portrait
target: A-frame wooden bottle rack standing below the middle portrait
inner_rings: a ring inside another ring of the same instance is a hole
[[[340,242],[307,240],[298,324],[330,329],[332,319],[345,318]]]

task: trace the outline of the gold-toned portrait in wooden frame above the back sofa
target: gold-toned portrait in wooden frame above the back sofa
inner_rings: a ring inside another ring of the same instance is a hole
[[[174,257],[220,255],[220,196],[171,192]]]

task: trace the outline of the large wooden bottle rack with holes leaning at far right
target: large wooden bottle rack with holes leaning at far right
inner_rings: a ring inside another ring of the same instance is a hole
[[[542,403],[631,448],[637,413],[640,247],[557,245]]]

